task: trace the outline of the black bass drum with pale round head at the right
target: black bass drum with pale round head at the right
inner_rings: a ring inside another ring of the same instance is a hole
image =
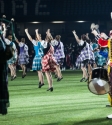
[[[108,72],[102,67],[94,68],[89,77],[88,89],[96,95],[107,94],[110,91]]]

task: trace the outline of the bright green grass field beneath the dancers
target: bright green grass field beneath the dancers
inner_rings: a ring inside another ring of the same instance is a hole
[[[86,82],[79,82],[80,71],[64,71],[64,79],[53,79],[54,91],[46,91],[48,83],[38,88],[36,72],[21,73],[10,81],[8,114],[0,115],[0,125],[112,125],[106,116],[112,114],[107,95],[89,92]]]

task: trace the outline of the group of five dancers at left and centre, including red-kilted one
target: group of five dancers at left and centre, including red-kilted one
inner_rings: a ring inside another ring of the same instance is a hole
[[[17,48],[15,43],[12,41],[12,35],[8,35],[6,38],[6,26],[3,23],[4,28],[4,37],[7,45],[11,45],[13,48],[13,57],[7,61],[8,67],[11,71],[11,80],[16,78],[16,64],[19,64],[23,73],[22,78],[26,76],[26,65],[29,63],[29,54],[28,54],[28,46],[25,44],[25,39],[22,38],[19,41],[15,34],[13,34],[15,41],[20,47],[20,53],[18,55]],[[48,81],[48,89],[47,91],[53,91],[53,80],[52,80],[52,72],[55,72],[55,76],[57,77],[57,81],[61,81],[63,79],[60,66],[64,62],[65,54],[64,54],[64,46],[61,42],[61,36],[56,35],[55,38],[52,37],[50,33],[50,29],[46,31],[46,38],[42,40],[41,34],[38,33],[38,29],[35,30],[35,38],[33,39],[28,32],[28,29],[25,29],[25,33],[32,42],[35,50],[35,56],[32,63],[32,70],[37,71],[38,79],[39,79],[39,88],[44,85],[44,75],[46,75]]]

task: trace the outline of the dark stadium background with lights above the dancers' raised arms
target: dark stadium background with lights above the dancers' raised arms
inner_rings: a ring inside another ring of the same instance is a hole
[[[19,39],[26,37],[25,28],[29,29],[32,37],[38,28],[43,39],[50,28],[54,37],[60,34],[63,43],[67,44],[75,41],[72,30],[76,30],[79,36],[88,32],[93,39],[90,30],[93,22],[108,35],[112,29],[111,11],[112,0],[0,0],[0,16],[5,14],[8,20],[15,19],[14,29]]]

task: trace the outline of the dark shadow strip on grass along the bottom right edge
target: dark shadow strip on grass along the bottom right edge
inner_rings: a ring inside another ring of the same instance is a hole
[[[49,123],[49,124],[42,124],[42,125],[111,125],[112,119],[105,118],[98,118],[98,119],[88,119],[84,121],[66,121],[60,123]]]

